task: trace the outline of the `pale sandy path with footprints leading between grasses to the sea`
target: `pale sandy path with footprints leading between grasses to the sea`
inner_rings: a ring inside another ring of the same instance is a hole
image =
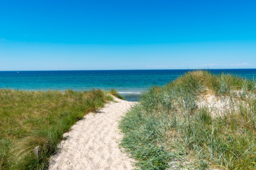
[[[64,134],[68,139],[60,142],[60,152],[50,158],[49,169],[132,169],[132,159],[118,147],[122,139],[118,120],[135,102],[114,101],[99,113],[85,115]]]

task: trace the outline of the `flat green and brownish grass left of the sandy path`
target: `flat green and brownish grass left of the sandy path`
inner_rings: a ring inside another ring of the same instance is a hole
[[[47,169],[48,159],[86,113],[112,97],[104,91],[0,90],[0,169]],[[33,153],[40,147],[39,157]]]

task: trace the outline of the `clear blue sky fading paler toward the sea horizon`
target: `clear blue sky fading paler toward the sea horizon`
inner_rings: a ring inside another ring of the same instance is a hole
[[[255,0],[0,0],[0,70],[256,68]]]

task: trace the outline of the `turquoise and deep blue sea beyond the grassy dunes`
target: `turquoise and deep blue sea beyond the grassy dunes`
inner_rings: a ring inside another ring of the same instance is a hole
[[[26,91],[87,91],[116,89],[127,101],[139,101],[152,86],[164,86],[192,69],[94,70],[94,71],[9,71],[0,72],[1,89]],[[255,79],[256,69],[207,69]]]

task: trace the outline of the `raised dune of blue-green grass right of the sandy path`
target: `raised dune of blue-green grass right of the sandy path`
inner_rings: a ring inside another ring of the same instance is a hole
[[[256,82],[188,72],[150,89],[122,119],[122,147],[139,169],[256,169]],[[228,98],[220,115],[204,96]]]

